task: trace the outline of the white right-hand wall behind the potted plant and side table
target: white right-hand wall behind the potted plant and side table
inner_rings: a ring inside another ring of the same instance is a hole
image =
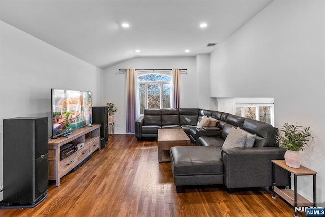
[[[325,201],[325,2],[274,0],[211,54],[212,97],[274,97],[275,126],[311,126],[302,165],[318,172]],[[298,191],[312,201],[312,178]]]

